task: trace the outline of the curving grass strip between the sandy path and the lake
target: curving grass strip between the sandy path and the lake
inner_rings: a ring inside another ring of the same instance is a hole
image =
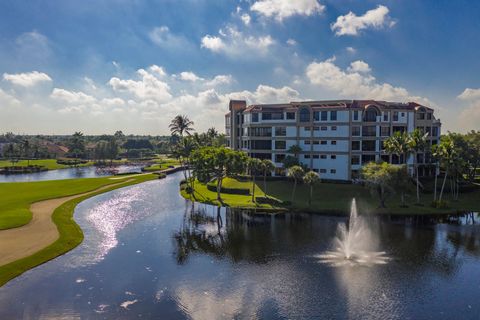
[[[129,182],[125,182],[122,184],[117,184],[115,186],[112,186],[111,188],[104,189],[101,191],[98,191],[96,193],[92,193],[89,195],[85,195],[76,199],[72,199],[60,207],[58,207],[52,216],[53,222],[57,225],[60,237],[58,238],[57,241],[52,243],[50,246],[40,250],[39,252],[14,261],[12,263],[6,264],[4,266],[0,267],[0,286],[4,285],[7,283],[9,280],[19,276],[20,274],[24,273],[25,271],[32,269],[42,263],[45,263],[49,260],[52,260],[70,250],[78,246],[80,243],[83,241],[83,232],[80,229],[80,227],[75,223],[75,220],[73,219],[73,212],[76,207],[76,205],[83,200],[93,197],[97,194],[101,194],[104,192],[108,192],[114,189],[122,188],[125,186],[133,185],[133,184],[138,184],[141,182],[145,182],[148,180],[152,179],[157,179],[158,177],[156,175],[148,174],[148,175],[135,175],[132,177],[125,176],[125,179],[123,180],[110,180],[111,183],[119,183],[121,181],[127,181],[127,180],[132,180]],[[101,179],[78,179],[78,180],[73,180],[73,181],[82,181],[82,180],[103,180]],[[82,181],[83,182],[83,181]],[[98,181],[100,182],[100,181]],[[27,184],[33,184],[36,182],[32,183],[27,183]],[[18,184],[23,184],[23,183],[18,183]],[[103,181],[103,185],[108,185],[110,183],[106,183],[106,181]],[[90,187],[93,186],[93,184],[89,184]],[[100,187],[102,185],[98,185],[97,187]],[[75,186],[77,190],[79,190],[79,186]],[[91,188],[90,190],[96,189]],[[88,190],[82,191],[86,192]],[[78,192],[77,192],[78,193]],[[48,199],[48,198],[46,198]],[[0,210],[1,211],[1,210]]]

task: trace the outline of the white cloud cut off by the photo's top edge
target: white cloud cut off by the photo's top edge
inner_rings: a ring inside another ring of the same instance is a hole
[[[259,0],[250,7],[250,10],[267,18],[282,21],[294,15],[312,16],[321,14],[325,10],[325,6],[317,0]]]

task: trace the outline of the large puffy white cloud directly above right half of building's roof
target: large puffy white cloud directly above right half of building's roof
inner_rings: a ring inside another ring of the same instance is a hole
[[[306,69],[307,78],[312,84],[344,98],[416,101],[432,105],[426,98],[410,95],[405,88],[377,82],[370,73],[370,66],[363,61],[353,62],[347,70],[342,70],[334,62],[333,58],[310,63]]]

